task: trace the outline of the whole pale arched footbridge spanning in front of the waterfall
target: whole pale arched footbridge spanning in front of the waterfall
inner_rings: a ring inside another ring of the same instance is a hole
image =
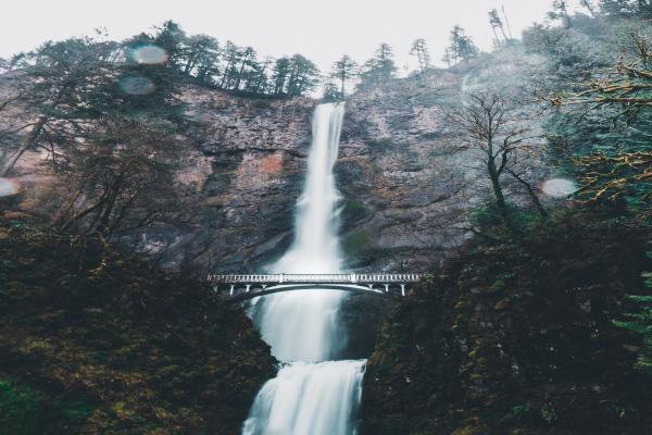
[[[225,299],[244,301],[260,296],[296,290],[343,290],[380,297],[404,297],[419,274],[269,274],[211,275],[213,289]]]

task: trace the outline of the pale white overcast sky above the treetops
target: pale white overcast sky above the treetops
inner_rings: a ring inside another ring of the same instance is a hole
[[[552,0],[16,0],[2,7],[0,57],[48,39],[93,34],[105,27],[123,39],[165,20],[188,34],[208,34],[252,46],[261,54],[302,53],[323,71],[348,53],[368,59],[390,44],[399,66],[410,63],[410,44],[426,38],[439,61],[454,24],[480,48],[491,47],[487,12],[504,5],[514,36],[542,22]],[[413,66],[412,63],[410,63]]]

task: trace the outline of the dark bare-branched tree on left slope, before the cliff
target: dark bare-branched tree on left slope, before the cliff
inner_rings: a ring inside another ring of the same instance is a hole
[[[183,207],[174,188],[178,147],[173,136],[147,121],[99,124],[91,141],[66,156],[71,196],[59,213],[61,231],[109,238]]]

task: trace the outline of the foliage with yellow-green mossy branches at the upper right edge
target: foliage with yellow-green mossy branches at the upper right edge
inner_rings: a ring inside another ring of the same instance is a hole
[[[650,36],[630,29],[629,51],[609,70],[594,70],[584,89],[552,98],[565,109],[562,132],[589,203],[622,203],[649,220],[652,200],[652,70]],[[577,144],[577,145],[575,145]]]

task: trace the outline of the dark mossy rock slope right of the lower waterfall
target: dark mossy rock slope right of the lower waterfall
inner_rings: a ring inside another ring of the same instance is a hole
[[[644,232],[575,219],[467,246],[389,314],[362,434],[652,433],[640,338],[613,323],[649,294]]]

